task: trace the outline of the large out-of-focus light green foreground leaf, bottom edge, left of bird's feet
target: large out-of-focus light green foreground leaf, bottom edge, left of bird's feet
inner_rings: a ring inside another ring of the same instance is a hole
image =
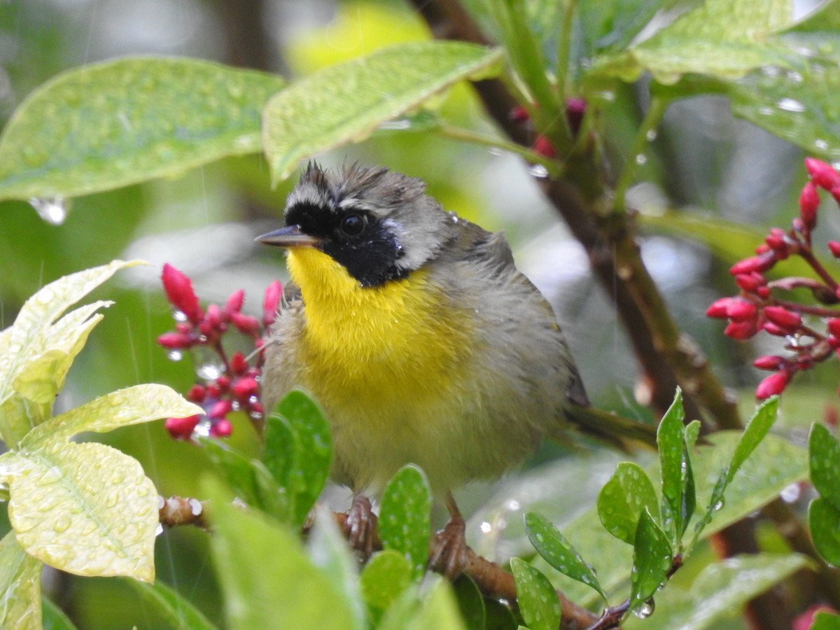
[[[213,506],[213,562],[230,627],[360,628],[344,595],[307,557],[296,533],[260,512],[228,504],[218,482],[205,480],[204,494]]]

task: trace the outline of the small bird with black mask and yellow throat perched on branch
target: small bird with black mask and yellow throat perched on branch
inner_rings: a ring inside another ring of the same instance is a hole
[[[459,547],[452,490],[506,474],[589,406],[557,318],[504,234],[425,187],[380,166],[310,162],[283,227],[257,238],[286,248],[291,278],[265,345],[265,407],[301,388],[323,408],[330,475],[354,492],[362,545],[368,497],[411,463],[446,497]],[[435,561],[454,575],[459,553]]]

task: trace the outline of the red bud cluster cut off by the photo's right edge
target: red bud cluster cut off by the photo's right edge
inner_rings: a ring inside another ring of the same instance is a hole
[[[837,352],[840,355],[840,310],[830,308],[840,302],[840,287],[822,263],[816,259],[811,245],[811,233],[816,228],[816,213],[820,205],[818,190],[822,188],[840,203],[840,173],[831,165],[813,158],[805,160],[811,180],[802,188],[799,197],[799,216],[789,230],[770,229],[755,250],[755,255],[739,260],[729,273],[735,276],[740,292],[736,297],[722,297],[706,311],[710,318],[727,319],[724,333],[732,339],[751,339],[764,331],[785,339],[785,349],[791,354],[768,354],[753,362],[760,370],[773,374],[759,383],[755,395],[764,399],[780,394],[798,370],[808,370]],[[832,256],[840,259],[840,243],[828,243]],[[769,281],[765,272],[790,256],[799,256],[816,277],[786,277]],[[781,299],[780,291],[805,289],[822,306],[801,304]],[[807,317],[807,321],[803,319]],[[815,322],[822,318],[823,326]]]

